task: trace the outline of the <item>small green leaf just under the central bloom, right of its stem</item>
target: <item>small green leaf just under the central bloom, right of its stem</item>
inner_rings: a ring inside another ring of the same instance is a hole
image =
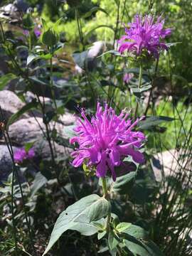
[[[135,176],[136,172],[132,171],[129,174],[118,177],[112,185],[112,191],[122,194],[127,193],[134,184]]]

